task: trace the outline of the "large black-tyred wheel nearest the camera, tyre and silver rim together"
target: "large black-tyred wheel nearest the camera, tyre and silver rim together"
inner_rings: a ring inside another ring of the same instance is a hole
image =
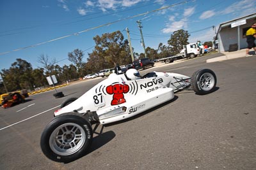
[[[45,127],[40,146],[56,162],[71,162],[84,155],[92,144],[92,125],[79,113],[64,113]]]

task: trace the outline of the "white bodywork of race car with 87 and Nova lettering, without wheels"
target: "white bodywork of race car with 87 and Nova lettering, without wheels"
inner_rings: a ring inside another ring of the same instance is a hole
[[[190,84],[189,77],[182,74],[162,72],[151,74],[156,76],[127,80],[125,74],[112,73],[76,101],[55,111],[54,115],[74,111],[77,113],[96,111],[100,124],[109,124],[170,101],[176,90],[188,87]]]

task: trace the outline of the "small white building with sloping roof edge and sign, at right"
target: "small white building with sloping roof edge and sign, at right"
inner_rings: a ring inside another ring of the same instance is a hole
[[[220,24],[215,38],[219,52],[231,52],[246,48],[245,34],[254,23],[256,23],[256,13]]]

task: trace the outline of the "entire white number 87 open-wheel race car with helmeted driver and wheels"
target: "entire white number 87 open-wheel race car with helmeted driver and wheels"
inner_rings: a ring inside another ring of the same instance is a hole
[[[200,69],[191,77],[177,73],[151,72],[144,76],[135,69],[112,73],[78,99],[64,101],[41,136],[42,152],[56,162],[82,157],[93,140],[92,124],[109,124],[133,117],[170,101],[174,92],[193,89],[204,95],[216,89],[216,75]]]

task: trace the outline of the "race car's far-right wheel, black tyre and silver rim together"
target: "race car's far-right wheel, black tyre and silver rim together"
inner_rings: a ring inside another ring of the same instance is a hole
[[[211,69],[200,69],[191,76],[191,87],[196,94],[209,94],[215,90],[217,78]]]

